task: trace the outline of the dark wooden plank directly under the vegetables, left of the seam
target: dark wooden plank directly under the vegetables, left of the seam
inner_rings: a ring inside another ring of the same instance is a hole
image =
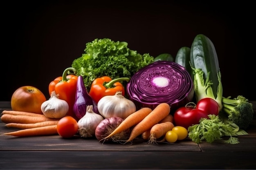
[[[4,127],[0,123],[0,134],[18,130],[16,128]],[[83,150],[83,151],[195,151],[200,152],[198,144],[191,140],[184,140],[176,144],[146,144],[142,139],[135,139],[131,144],[101,143],[96,138],[81,138],[75,136],[64,139],[58,135],[41,137],[13,137],[0,136],[0,150]]]

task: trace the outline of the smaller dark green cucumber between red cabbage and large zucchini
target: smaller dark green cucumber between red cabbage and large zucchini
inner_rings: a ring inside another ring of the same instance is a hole
[[[186,70],[189,72],[189,74],[191,75],[192,79],[193,79],[193,70],[191,68],[191,65],[189,63],[190,61],[190,48],[187,46],[183,46],[181,47],[178,52],[177,55],[175,57],[175,63],[180,64],[181,66],[184,66],[184,68],[186,68]]]

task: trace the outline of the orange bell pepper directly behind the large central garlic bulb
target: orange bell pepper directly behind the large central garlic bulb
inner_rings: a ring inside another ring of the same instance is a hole
[[[92,82],[89,94],[96,103],[106,95],[115,95],[117,91],[121,91],[124,96],[125,88],[123,84],[120,83],[124,80],[128,82],[130,79],[128,77],[121,77],[112,80],[108,76],[96,78]]]

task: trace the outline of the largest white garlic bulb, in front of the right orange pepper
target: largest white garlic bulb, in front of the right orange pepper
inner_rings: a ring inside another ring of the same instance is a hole
[[[126,99],[121,91],[117,91],[115,95],[107,95],[102,97],[98,102],[99,113],[104,118],[121,117],[125,119],[136,111],[135,104]]]

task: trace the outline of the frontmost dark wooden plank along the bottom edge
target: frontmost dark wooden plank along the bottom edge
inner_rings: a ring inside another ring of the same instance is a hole
[[[1,151],[1,169],[255,169],[254,152]]]

